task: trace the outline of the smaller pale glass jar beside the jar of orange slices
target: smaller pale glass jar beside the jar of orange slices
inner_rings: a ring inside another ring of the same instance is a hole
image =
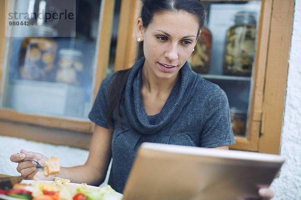
[[[79,50],[61,49],[59,51],[56,80],[58,82],[79,85],[81,83],[81,73],[83,70],[81,58],[82,52]]]

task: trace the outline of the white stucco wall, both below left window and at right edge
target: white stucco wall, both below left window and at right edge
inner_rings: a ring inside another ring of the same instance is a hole
[[[280,175],[271,188],[273,200],[301,199],[301,0],[295,1],[293,31],[289,54],[289,69],[280,154],[286,158]],[[20,148],[61,158],[62,166],[83,164],[88,151],[0,136],[0,173],[19,175],[16,163],[9,161]]]

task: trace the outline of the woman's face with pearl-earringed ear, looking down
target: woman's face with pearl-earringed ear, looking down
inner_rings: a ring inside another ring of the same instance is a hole
[[[175,77],[197,42],[197,18],[185,11],[166,11],[155,14],[147,28],[139,20],[136,33],[143,40],[143,67],[160,79]]]

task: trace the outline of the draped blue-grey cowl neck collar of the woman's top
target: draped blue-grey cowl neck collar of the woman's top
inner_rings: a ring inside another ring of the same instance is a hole
[[[125,86],[125,109],[133,128],[143,134],[154,134],[172,124],[180,115],[197,87],[198,74],[189,63],[180,69],[180,75],[160,113],[148,116],[141,96],[141,71],[145,58],[140,58],[132,67]]]

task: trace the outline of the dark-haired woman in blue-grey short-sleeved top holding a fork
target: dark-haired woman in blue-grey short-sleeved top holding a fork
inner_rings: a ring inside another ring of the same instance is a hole
[[[145,0],[136,24],[145,58],[102,81],[89,114],[96,125],[88,160],[82,166],[62,167],[61,177],[99,185],[112,157],[108,184],[122,192],[144,141],[222,149],[235,142],[224,91],[187,62],[203,20],[199,0]],[[34,163],[22,161],[25,156],[40,163],[47,159],[25,150],[12,155],[22,176],[46,179]],[[263,196],[271,197],[270,190],[265,191]]]

